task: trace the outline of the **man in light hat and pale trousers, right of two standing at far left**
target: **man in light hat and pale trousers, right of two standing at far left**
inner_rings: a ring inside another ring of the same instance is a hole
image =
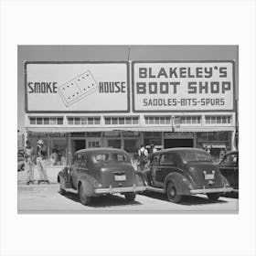
[[[48,181],[48,174],[47,174],[47,168],[46,168],[46,160],[48,157],[48,148],[44,144],[43,140],[37,141],[37,168],[39,173],[39,180],[37,181],[37,184],[40,184],[41,182],[47,182]]]

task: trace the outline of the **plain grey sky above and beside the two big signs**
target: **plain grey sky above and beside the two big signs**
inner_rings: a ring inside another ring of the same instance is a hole
[[[239,95],[238,46],[26,46],[17,48],[17,129],[25,129],[25,61],[235,60]]]

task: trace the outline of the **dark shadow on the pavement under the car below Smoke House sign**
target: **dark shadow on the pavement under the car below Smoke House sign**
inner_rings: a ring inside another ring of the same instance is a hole
[[[67,192],[63,197],[67,197],[70,200],[80,203],[80,198],[77,194]],[[127,202],[124,197],[118,197],[115,195],[106,195],[101,197],[92,197],[91,203],[87,207],[91,208],[105,208],[105,207],[116,207],[116,206],[133,206],[141,205],[140,202],[133,201]]]

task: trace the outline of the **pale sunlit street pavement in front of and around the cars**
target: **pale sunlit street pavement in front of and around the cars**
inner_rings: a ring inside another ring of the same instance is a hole
[[[145,192],[137,195],[133,203],[123,195],[93,197],[90,206],[80,204],[73,193],[59,194],[59,184],[17,186],[18,213],[238,213],[238,197],[219,197],[210,201],[205,195],[185,197],[181,204],[174,204],[160,193]]]

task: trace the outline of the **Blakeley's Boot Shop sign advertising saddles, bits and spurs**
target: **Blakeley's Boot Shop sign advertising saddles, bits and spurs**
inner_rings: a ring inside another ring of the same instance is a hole
[[[133,61],[133,112],[234,110],[234,61]]]

